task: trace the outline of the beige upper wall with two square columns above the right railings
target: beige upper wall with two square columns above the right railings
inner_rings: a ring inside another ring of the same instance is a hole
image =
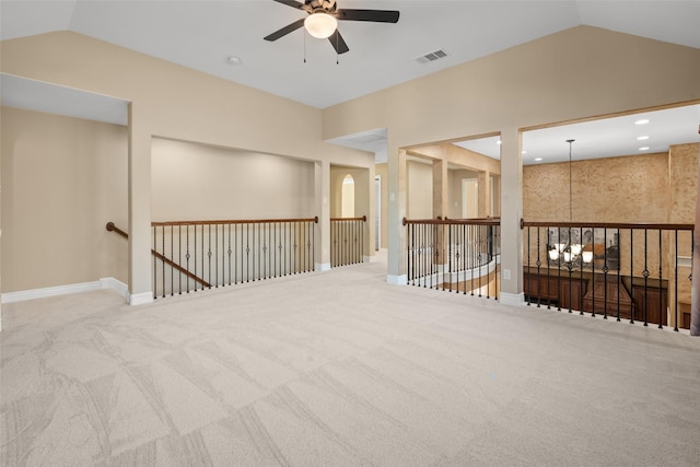
[[[388,129],[389,276],[405,273],[400,149],[501,136],[503,291],[522,291],[520,130],[700,100],[700,50],[578,26],[324,109],[324,139]],[[398,280],[398,279],[397,279]],[[509,299],[510,300],[510,299]]]

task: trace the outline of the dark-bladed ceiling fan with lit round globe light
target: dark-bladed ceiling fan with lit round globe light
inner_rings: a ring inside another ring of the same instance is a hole
[[[302,17],[265,37],[265,40],[277,40],[304,26],[308,34],[318,38],[328,38],[338,54],[345,54],[348,45],[338,32],[338,21],[371,21],[374,23],[397,23],[398,11],[393,10],[349,10],[336,7],[336,0],[275,0],[298,10],[305,11],[308,16]]]

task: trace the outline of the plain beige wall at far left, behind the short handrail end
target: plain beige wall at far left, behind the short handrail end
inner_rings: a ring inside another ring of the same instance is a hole
[[[127,131],[2,107],[2,292],[127,280]]]

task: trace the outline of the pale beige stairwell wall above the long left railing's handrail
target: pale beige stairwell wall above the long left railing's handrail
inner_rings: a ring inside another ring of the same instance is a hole
[[[308,161],[154,138],[151,179],[154,221],[318,215]]]

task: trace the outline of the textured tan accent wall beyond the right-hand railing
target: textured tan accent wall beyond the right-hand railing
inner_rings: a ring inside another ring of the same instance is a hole
[[[673,145],[667,153],[573,162],[573,221],[693,224],[699,152],[700,144],[691,143]],[[528,221],[569,220],[568,162],[523,167],[523,212]],[[536,232],[532,231],[530,265],[538,257],[546,261],[546,234],[540,233],[538,256]],[[646,244],[645,265],[643,232],[635,231],[633,258],[630,258],[630,234],[629,231],[621,231],[620,271],[627,276],[633,266],[634,276],[641,281],[646,267],[652,285],[655,285],[661,262],[663,278],[669,280],[667,293],[673,306],[676,301],[675,235],[665,233],[662,236],[661,255],[656,231],[649,233]],[[527,248],[523,253],[527,264]],[[678,234],[678,255],[690,256],[688,232]],[[602,270],[603,265],[597,267]],[[679,302],[690,303],[689,276],[689,267],[678,267]],[[673,324],[673,314],[669,323]]]

